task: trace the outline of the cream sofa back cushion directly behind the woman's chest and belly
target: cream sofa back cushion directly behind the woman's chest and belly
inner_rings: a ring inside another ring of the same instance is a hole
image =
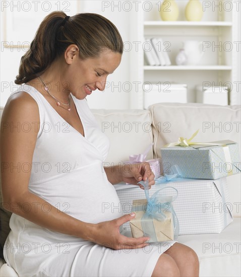
[[[109,140],[107,164],[129,161],[129,156],[142,154],[153,143],[151,113],[148,110],[91,110]],[[152,149],[147,159],[153,158]],[[107,166],[106,164],[106,166]]]

